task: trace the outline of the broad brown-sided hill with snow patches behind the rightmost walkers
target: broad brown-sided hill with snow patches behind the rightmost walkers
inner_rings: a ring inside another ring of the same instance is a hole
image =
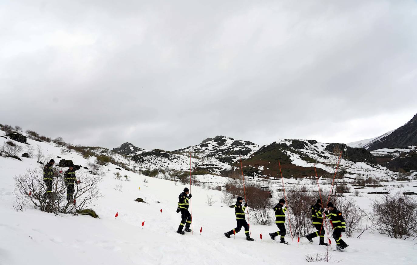
[[[278,161],[284,177],[314,177],[314,165],[322,176],[324,171],[334,170],[333,147],[342,150],[340,170],[345,178],[395,179],[397,174],[378,165],[375,157],[362,148],[351,148],[345,144],[324,144],[314,140],[281,140],[262,146],[252,156],[243,161],[244,173],[267,179],[279,178]],[[236,167],[240,166],[236,163]]]

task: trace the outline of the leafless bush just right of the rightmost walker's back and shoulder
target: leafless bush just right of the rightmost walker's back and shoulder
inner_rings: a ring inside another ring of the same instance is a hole
[[[342,212],[344,220],[346,221],[345,235],[350,238],[357,231],[363,229],[362,220],[366,217],[365,213],[361,211],[359,205],[352,197],[338,197],[337,208]]]

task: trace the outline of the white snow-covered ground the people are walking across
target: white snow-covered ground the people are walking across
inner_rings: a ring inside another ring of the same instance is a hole
[[[0,131],[0,136],[4,132]],[[0,145],[4,138],[0,138]],[[40,144],[49,157],[61,156],[75,164],[85,166],[87,160],[76,153],[64,153],[61,148],[48,143],[28,140],[31,146]],[[19,144],[19,143],[16,143]],[[26,146],[24,144],[20,144]],[[19,154],[20,156],[21,154]],[[35,159],[0,157],[0,264],[302,264],[304,255],[324,253],[317,244],[309,244],[301,238],[297,246],[289,234],[290,245],[283,245],[268,239],[268,232],[276,231],[275,224],[255,225],[251,222],[254,242],[245,240],[243,232],[236,238],[225,238],[223,233],[235,228],[234,209],[220,203],[221,191],[191,187],[191,208],[193,234],[175,233],[180,223],[176,213],[178,194],[185,185],[159,178],[150,178],[136,173],[105,166],[105,176],[100,183],[103,197],[96,201],[94,210],[100,218],[90,216],[53,215],[28,208],[15,211],[13,205],[13,176],[24,173],[28,168],[39,166]],[[93,161],[94,158],[90,158]],[[128,175],[131,181],[113,179],[113,173]],[[88,174],[80,169],[78,174]],[[201,181],[224,183],[221,176],[199,176]],[[145,182],[144,182],[145,181]],[[286,179],[287,186],[297,186],[309,181]],[[123,190],[115,186],[122,183]],[[390,191],[417,192],[417,181],[387,182]],[[273,185],[279,186],[276,181]],[[407,186],[408,185],[408,186]],[[322,183],[322,186],[325,186]],[[140,188],[140,189],[139,189]],[[188,188],[190,188],[188,186]],[[383,191],[385,187],[361,189],[360,192]],[[213,206],[206,203],[207,195],[217,201]],[[365,210],[374,200],[374,194],[354,197]],[[148,203],[138,203],[136,198]],[[162,215],[160,210],[162,211]],[[249,209],[250,211],[250,209]],[[272,210],[271,210],[272,211]],[[118,217],[115,220],[115,214]],[[145,221],[142,228],[141,223]],[[200,235],[200,228],[202,233]],[[262,233],[264,241],[259,235]],[[417,264],[417,241],[387,238],[377,233],[365,232],[360,239],[344,238],[349,244],[345,252],[329,251],[331,262],[340,264]]]

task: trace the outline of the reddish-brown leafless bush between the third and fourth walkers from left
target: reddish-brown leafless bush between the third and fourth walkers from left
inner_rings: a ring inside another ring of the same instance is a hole
[[[286,223],[290,226],[295,237],[303,237],[311,233],[313,225],[311,224],[311,205],[315,203],[319,194],[307,191],[305,186],[297,190],[291,188],[286,190],[286,198],[289,206],[290,218],[286,218]],[[281,198],[284,198],[282,194]]]

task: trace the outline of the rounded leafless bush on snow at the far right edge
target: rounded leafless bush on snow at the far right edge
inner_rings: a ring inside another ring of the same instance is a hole
[[[391,238],[417,237],[417,202],[412,197],[386,194],[372,208],[371,218],[379,233]]]

